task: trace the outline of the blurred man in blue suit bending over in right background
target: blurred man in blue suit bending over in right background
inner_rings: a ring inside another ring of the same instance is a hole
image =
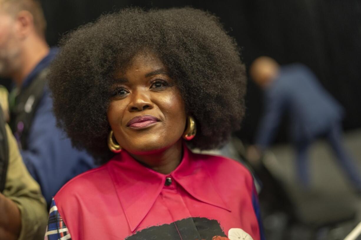
[[[252,63],[250,74],[265,91],[265,114],[258,128],[256,147],[251,147],[249,153],[262,152],[269,146],[282,115],[287,111],[296,149],[297,177],[301,184],[304,187],[309,185],[307,151],[312,142],[323,135],[357,191],[361,191],[357,166],[342,144],[343,109],[322,88],[309,68],[301,64],[280,67],[272,58],[259,57]]]

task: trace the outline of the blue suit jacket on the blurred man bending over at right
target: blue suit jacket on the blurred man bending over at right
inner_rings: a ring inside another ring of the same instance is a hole
[[[309,68],[301,64],[281,67],[265,90],[265,114],[256,138],[261,149],[272,141],[284,112],[290,116],[294,142],[314,138],[343,117],[339,103],[323,89]]]

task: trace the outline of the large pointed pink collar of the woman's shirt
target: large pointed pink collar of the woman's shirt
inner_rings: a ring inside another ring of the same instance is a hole
[[[185,144],[183,146],[182,162],[169,175],[199,201],[230,211],[208,173],[208,165],[204,159],[207,156],[193,154]],[[143,166],[126,151],[115,156],[107,165],[133,232],[155,203],[167,175]]]

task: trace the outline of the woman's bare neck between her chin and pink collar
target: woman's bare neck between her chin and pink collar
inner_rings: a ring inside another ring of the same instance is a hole
[[[164,151],[148,155],[130,155],[158,173],[169,174],[181,163],[183,157],[182,139]]]

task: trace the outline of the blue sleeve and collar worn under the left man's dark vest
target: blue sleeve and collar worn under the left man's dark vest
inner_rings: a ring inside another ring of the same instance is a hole
[[[23,86],[48,67],[56,56],[56,49],[47,55],[24,80]],[[39,183],[47,203],[71,178],[93,168],[93,159],[84,151],[71,146],[70,139],[56,127],[52,98],[47,87],[36,109],[27,140],[27,149],[21,150],[23,161],[32,177]]]

